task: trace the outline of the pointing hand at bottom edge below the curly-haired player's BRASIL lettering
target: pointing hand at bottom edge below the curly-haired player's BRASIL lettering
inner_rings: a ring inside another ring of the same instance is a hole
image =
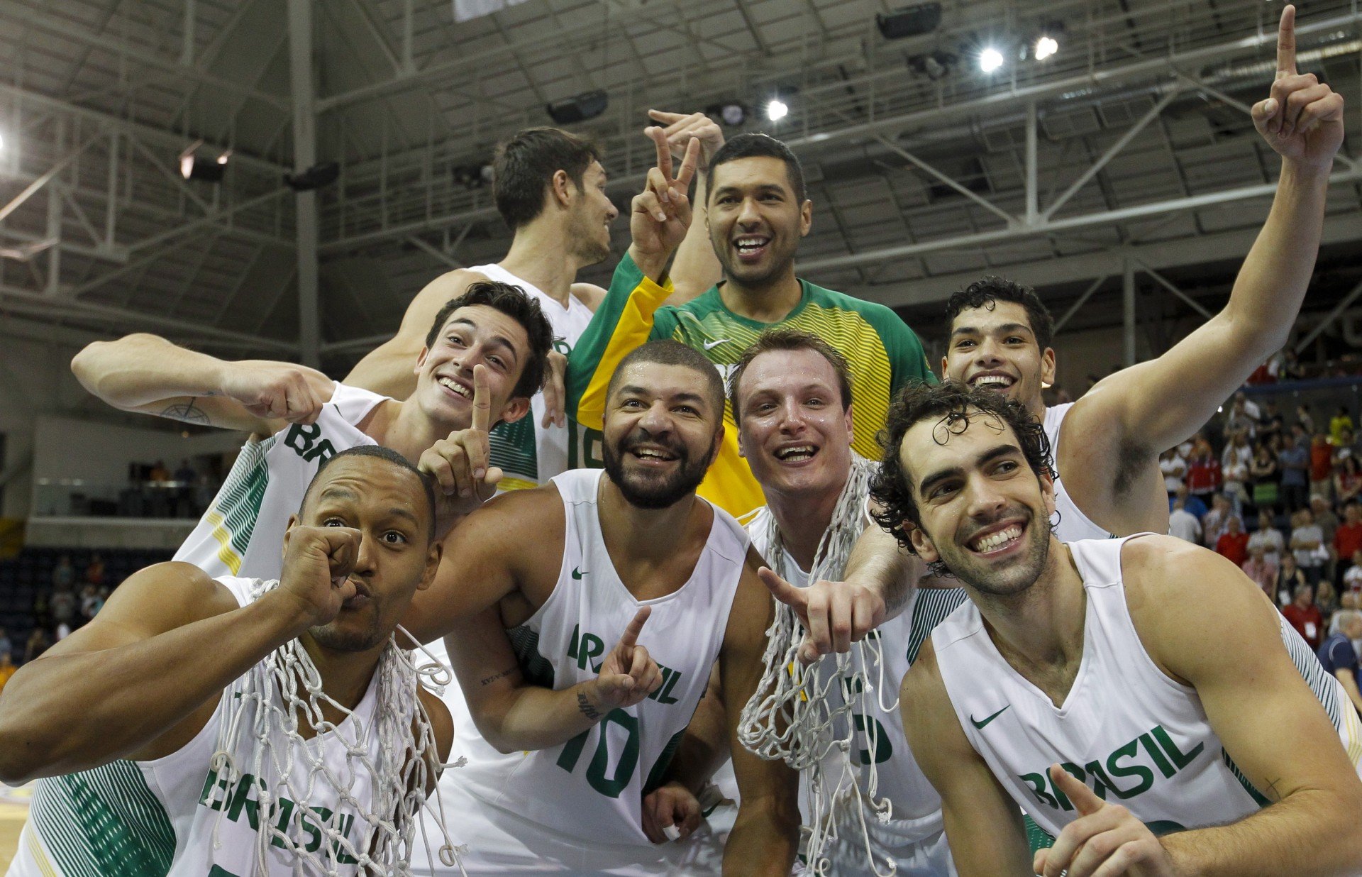
[[[1058,764],[1050,765],[1050,780],[1079,812],[1064,827],[1054,846],[1038,850],[1031,862],[1042,877],[1173,877],[1173,858],[1141,823],[1121,805],[1107,803]]]

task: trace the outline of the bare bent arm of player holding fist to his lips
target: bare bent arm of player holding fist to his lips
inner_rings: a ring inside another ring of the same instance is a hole
[[[223,688],[301,633],[300,618],[278,591],[237,607],[189,564],[132,575],[86,626],[4,686],[0,778],[18,784],[174,752]]]

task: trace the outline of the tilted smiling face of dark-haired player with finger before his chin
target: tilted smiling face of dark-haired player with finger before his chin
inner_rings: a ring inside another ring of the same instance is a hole
[[[411,399],[449,432],[467,429],[473,424],[473,366],[484,365],[493,422],[518,421],[530,410],[530,400],[512,392],[530,355],[530,339],[513,317],[489,305],[459,308],[434,343],[421,351]]]

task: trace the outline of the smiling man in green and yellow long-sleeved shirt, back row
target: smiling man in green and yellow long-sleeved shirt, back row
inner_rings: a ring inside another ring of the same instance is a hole
[[[685,192],[680,180],[670,182],[670,155],[659,151],[658,169],[665,178],[655,185],[661,195]],[[918,336],[884,305],[795,276],[794,257],[812,227],[813,203],[805,196],[799,159],[779,140],[742,133],[725,143],[710,162],[707,197],[703,219],[723,266],[723,282],[681,306],[662,306],[671,294],[665,271],[670,252],[640,252],[635,232],[635,245],[620,260],[605,302],[573,347],[568,410],[584,426],[599,424],[616,365],[648,339],[678,340],[727,374],[763,331],[790,327],[827,339],[853,364],[861,417],[855,448],[877,456],[874,433],[892,394],[913,381],[934,380]],[[725,413],[725,422],[729,430],[700,494],[744,515],[764,500],[740,459],[731,413]]]

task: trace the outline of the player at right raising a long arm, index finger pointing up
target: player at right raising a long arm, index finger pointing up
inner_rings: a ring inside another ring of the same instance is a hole
[[[947,305],[944,377],[1022,402],[1045,425],[1062,541],[1167,531],[1159,453],[1200,429],[1282,349],[1301,310],[1320,248],[1329,170],[1343,140],[1343,98],[1313,74],[1297,74],[1291,5],[1278,30],[1276,80],[1271,97],[1254,105],[1253,124],[1282,155],[1272,210],[1224,309],[1162,357],[1106,377],[1077,402],[1046,407],[1041,391],[1056,373],[1053,321],[1036,294],[986,278]],[[846,651],[884,611],[881,601],[891,605],[889,614],[903,603],[900,586],[873,576],[849,583],[831,611],[854,605],[854,617],[810,618],[809,652]],[[849,633],[827,633],[840,629]]]

